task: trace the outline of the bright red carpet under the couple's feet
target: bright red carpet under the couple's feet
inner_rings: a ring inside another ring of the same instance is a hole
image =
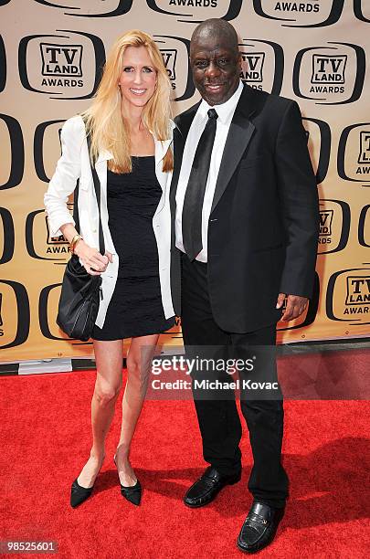
[[[94,380],[93,371],[0,379],[0,539],[55,540],[58,558],[242,557],[235,541],[251,502],[247,432],[240,483],[204,509],[187,509],[184,492],[205,467],[192,402],[145,403],[132,446],[144,488],[134,508],[122,499],[112,461],[119,400],[94,494],[69,507],[70,483],[90,452]],[[259,556],[367,556],[369,402],[289,401],[285,410],[291,498],[277,539]]]

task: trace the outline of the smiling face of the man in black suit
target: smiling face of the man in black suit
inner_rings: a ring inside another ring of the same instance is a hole
[[[209,105],[225,103],[238,88],[240,55],[217,34],[192,40],[190,66],[196,89]]]

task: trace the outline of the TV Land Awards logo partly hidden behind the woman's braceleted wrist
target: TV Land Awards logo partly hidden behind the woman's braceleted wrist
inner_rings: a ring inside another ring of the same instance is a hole
[[[73,204],[68,204],[73,213]],[[31,258],[50,260],[55,264],[66,264],[69,260],[69,242],[60,235],[52,237],[48,216],[44,209],[38,209],[26,217],[26,249]]]

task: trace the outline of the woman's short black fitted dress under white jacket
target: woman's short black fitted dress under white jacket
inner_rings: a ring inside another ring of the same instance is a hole
[[[132,173],[107,173],[108,225],[120,266],[103,327],[95,324],[91,338],[121,340],[165,332],[174,326],[174,317],[164,317],[159,282],[153,215],[162,188],[154,156],[132,157]]]

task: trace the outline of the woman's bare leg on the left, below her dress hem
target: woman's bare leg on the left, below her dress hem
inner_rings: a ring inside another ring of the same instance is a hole
[[[114,416],[115,403],[122,388],[122,340],[93,340],[97,368],[91,400],[92,447],[90,459],[78,478],[82,487],[92,487],[105,457],[105,438]]]

